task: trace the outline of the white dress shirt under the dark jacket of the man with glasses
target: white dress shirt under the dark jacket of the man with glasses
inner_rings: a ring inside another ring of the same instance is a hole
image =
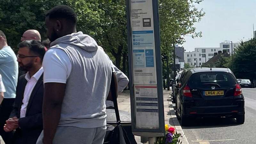
[[[42,76],[44,72],[43,67],[41,67],[32,77],[29,76],[29,73],[27,72],[25,79],[28,81],[24,90],[24,94],[23,94],[23,100],[22,100],[22,105],[20,108],[20,118],[25,117],[26,116],[26,110],[28,107],[28,101],[30,99],[30,95],[38,81],[38,79],[40,78],[40,76]]]

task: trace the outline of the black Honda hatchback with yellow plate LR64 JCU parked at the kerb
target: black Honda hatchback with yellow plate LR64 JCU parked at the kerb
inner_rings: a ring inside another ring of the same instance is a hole
[[[230,117],[244,123],[244,96],[229,68],[192,68],[181,82],[176,102],[177,118]]]

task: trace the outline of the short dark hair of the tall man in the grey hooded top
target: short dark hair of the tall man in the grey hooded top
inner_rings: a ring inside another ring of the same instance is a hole
[[[76,24],[77,22],[76,12],[67,5],[54,6],[45,16],[49,16],[49,19],[66,19],[73,22],[73,24]]]

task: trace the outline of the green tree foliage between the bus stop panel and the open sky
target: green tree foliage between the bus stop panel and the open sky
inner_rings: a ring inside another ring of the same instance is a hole
[[[183,44],[184,36],[202,36],[193,26],[204,16],[195,4],[202,0],[159,0],[161,51],[172,57],[173,44]]]

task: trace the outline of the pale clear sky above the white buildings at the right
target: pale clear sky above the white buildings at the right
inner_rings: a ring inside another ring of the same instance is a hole
[[[185,36],[182,46],[187,52],[196,47],[220,47],[225,40],[235,43],[253,37],[256,0],[204,0],[196,7],[205,12],[202,20],[194,24],[196,31],[202,31],[202,37]]]

